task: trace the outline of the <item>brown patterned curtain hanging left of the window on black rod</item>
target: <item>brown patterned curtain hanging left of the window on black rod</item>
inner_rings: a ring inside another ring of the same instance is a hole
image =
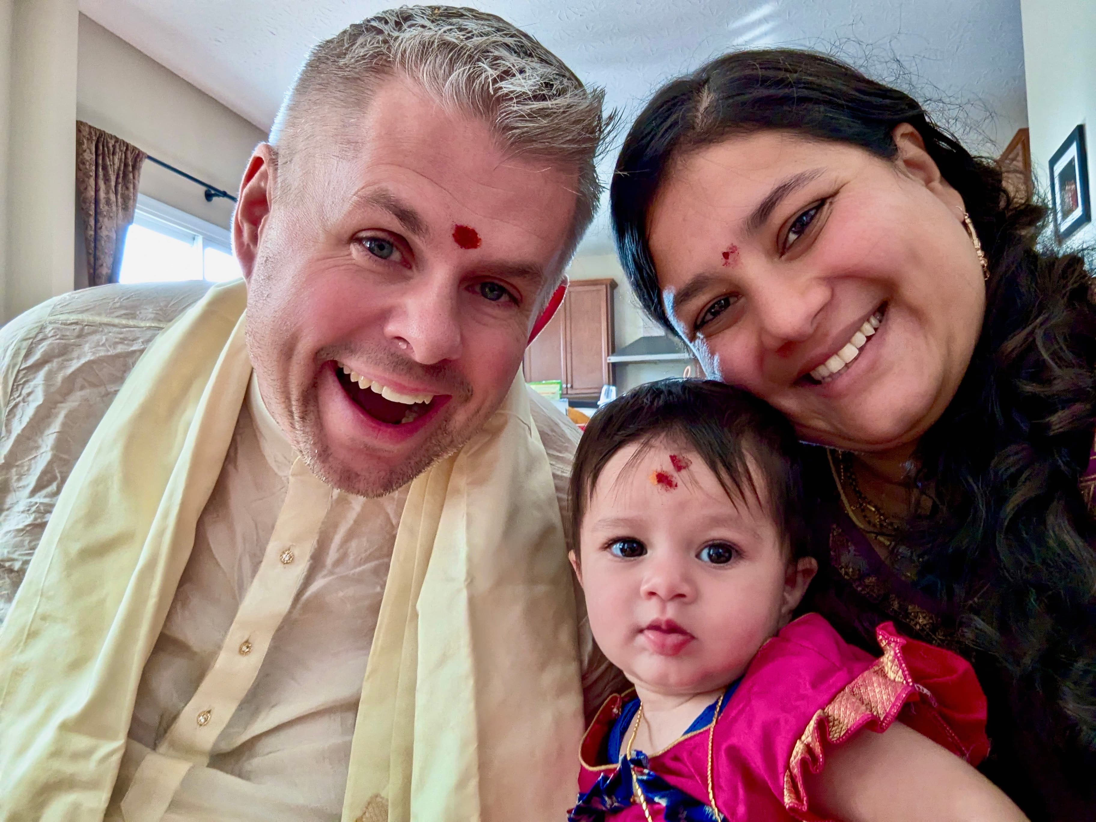
[[[118,282],[145,157],[121,137],[77,121],[76,191],[88,250],[88,285]]]

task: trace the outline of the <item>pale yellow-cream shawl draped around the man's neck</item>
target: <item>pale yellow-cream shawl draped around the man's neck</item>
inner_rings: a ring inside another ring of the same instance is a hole
[[[57,501],[0,629],[2,820],[103,818],[243,402],[246,301],[242,283],[216,286],[157,338]],[[518,377],[409,491],[343,820],[558,819],[573,801],[582,695],[563,546]]]

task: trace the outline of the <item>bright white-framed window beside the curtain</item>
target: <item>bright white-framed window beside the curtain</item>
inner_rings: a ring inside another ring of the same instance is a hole
[[[134,221],[126,230],[119,283],[222,283],[239,276],[227,230],[137,195]]]

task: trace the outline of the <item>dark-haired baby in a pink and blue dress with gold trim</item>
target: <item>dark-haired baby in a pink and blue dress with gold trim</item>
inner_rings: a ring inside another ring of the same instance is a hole
[[[761,400],[663,380],[601,409],[571,477],[571,563],[633,690],[586,731],[570,820],[1023,820],[973,765],[985,697],[956,654],[817,614],[799,444]],[[897,720],[897,721],[895,721]]]

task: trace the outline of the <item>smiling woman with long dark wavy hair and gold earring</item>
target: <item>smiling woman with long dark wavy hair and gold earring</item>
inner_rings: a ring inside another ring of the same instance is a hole
[[[806,607],[968,657],[986,775],[1032,820],[1096,818],[1096,308],[1080,258],[1036,250],[1043,209],[906,94],[795,50],[659,91],[612,207],[644,309],[825,446]]]

